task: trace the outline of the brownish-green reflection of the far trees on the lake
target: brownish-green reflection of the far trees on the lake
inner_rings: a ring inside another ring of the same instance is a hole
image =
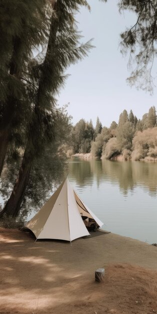
[[[102,181],[118,183],[124,196],[136,186],[149,193],[151,197],[157,192],[157,164],[143,162],[111,162],[111,161],[79,161],[73,159],[69,163],[69,173],[78,186],[97,183],[97,189]]]

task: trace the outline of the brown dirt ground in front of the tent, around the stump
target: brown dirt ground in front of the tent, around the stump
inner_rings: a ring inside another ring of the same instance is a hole
[[[71,246],[0,228],[0,313],[157,313],[157,247],[95,235]],[[100,267],[104,283],[94,281]]]

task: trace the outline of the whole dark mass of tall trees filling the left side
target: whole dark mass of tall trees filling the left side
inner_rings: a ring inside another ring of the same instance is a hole
[[[70,117],[57,106],[56,94],[65,83],[66,68],[87,56],[92,48],[90,41],[80,43],[82,36],[75,21],[80,6],[90,9],[86,0],[14,0],[12,16],[9,1],[0,6],[3,27],[0,41],[7,36],[0,62],[4,73],[1,77],[4,93],[0,95],[0,173],[6,158],[1,193],[5,191],[5,182],[11,193],[1,217],[17,217],[26,199],[27,203],[33,199],[39,204],[38,198],[43,193],[40,185],[36,189],[35,170],[40,174],[36,165],[42,160],[47,169],[45,153],[57,159],[58,147],[70,132]],[[33,50],[39,50],[37,57]],[[15,171],[13,156],[20,160]],[[3,180],[5,172],[7,181]],[[43,185],[46,178],[43,175]]]

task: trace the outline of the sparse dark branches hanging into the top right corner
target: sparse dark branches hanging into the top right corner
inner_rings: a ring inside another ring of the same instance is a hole
[[[156,57],[156,15],[157,1],[119,0],[120,11],[129,10],[136,14],[134,25],[121,34],[122,53],[130,52],[129,65],[136,64],[132,70],[129,83],[152,91],[152,65]]]

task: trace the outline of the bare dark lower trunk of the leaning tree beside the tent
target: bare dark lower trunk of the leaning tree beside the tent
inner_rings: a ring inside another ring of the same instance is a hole
[[[31,156],[28,158],[28,150],[25,150],[22,165],[20,167],[19,175],[16,180],[14,189],[3,211],[0,213],[0,217],[4,214],[7,216],[17,217],[20,211],[21,203],[23,201],[26,187],[28,184],[30,171],[32,166]]]

